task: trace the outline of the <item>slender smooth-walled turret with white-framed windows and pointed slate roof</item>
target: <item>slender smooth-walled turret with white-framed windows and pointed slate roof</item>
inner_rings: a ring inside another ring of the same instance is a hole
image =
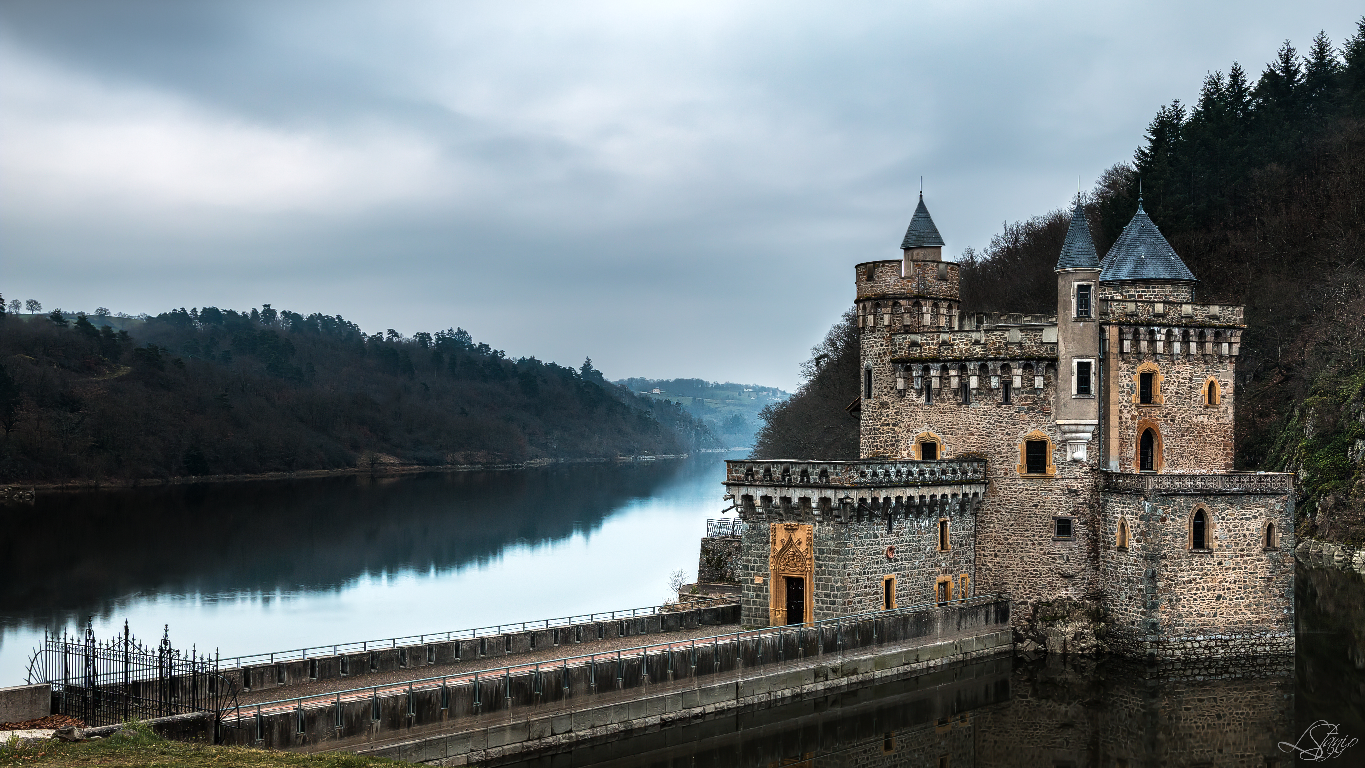
[[[1099,351],[1096,288],[1100,260],[1080,201],[1057,260],[1057,428],[1066,440],[1066,458],[1087,459],[1085,444],[1099,425]],[[1070,381],[1070,385],[1066,383]]]

